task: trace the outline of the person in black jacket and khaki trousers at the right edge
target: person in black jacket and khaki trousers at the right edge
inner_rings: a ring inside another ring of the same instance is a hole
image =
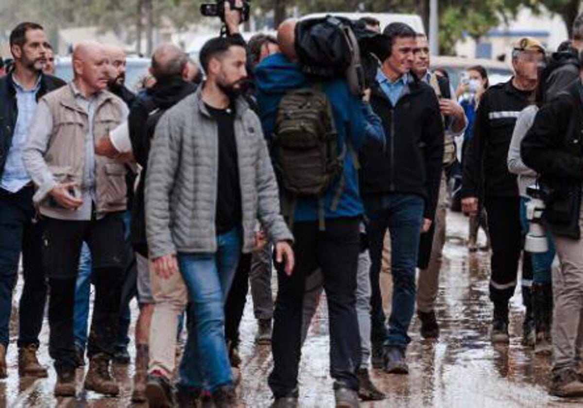
[[[580,58],[583,55],[580,55]],[[549,393],[583,396],[580,375],[580,326],[583,314],[583,72],[543,105],[522,140],[526,166],[540,174],[547,191],[545,221],[553,234],[560,271],[553,273],[553,367]]]

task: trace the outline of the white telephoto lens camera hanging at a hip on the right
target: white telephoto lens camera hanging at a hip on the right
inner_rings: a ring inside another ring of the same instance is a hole
[[[526,195],[531,198],[526,204],[526,219],[529,221],[528,234],[524,250],[528,252],[544,253],[549,251],[549,242],[542,217],[545,212],[545,192],[538,185],[526,188]]]

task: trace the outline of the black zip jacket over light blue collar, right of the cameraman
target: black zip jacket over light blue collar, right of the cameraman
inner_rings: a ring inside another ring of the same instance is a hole
[[[436,93],[413,78],[393,106],[375,82],[371,106],[382,120],[385,139],[369,140],[360,150],[360,192],[364,201],[395,192],[420,195],[425,201],[424,217],[433,220],[444,140]]]

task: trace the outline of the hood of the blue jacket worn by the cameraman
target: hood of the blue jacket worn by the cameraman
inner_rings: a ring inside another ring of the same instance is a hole
[[[285,93],[306,82],[300,65],[281,53],[270,55],[255,67],[255,85],[260,92]]]

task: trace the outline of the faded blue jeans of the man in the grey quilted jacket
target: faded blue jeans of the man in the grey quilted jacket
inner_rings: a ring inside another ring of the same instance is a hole
[[[241,231],[217,237],[214,254],[178,254],[188,289],[188,340],[180,363],[178,387],[209,389],[231,384],[224,337],[224,303],[241,254]]]

